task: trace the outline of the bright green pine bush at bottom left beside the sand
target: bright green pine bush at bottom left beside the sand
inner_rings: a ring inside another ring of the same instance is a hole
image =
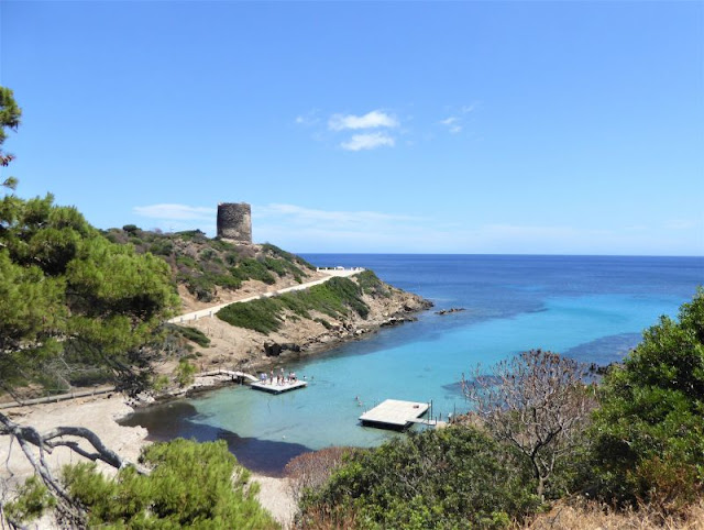
[[[278,528],[224,441],[155,443],[141,461],[153,466],[148,475],[127,467],[111,479],[95,464],[65,468],[64,482],[88,509],[90,528]]]

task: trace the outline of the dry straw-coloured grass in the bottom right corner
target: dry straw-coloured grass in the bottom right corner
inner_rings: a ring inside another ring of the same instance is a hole
[[[678,516],[641,506],[616,511],[597,503],[558,503],[522,530],[704,530],[704,499],[683,509]]]

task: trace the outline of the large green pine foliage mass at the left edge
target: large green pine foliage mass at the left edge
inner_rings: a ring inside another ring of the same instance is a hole
[[[72,356],[125,375],[177,307],[166,263],[105,239],[53,197],[0,200],[0,383]]]

